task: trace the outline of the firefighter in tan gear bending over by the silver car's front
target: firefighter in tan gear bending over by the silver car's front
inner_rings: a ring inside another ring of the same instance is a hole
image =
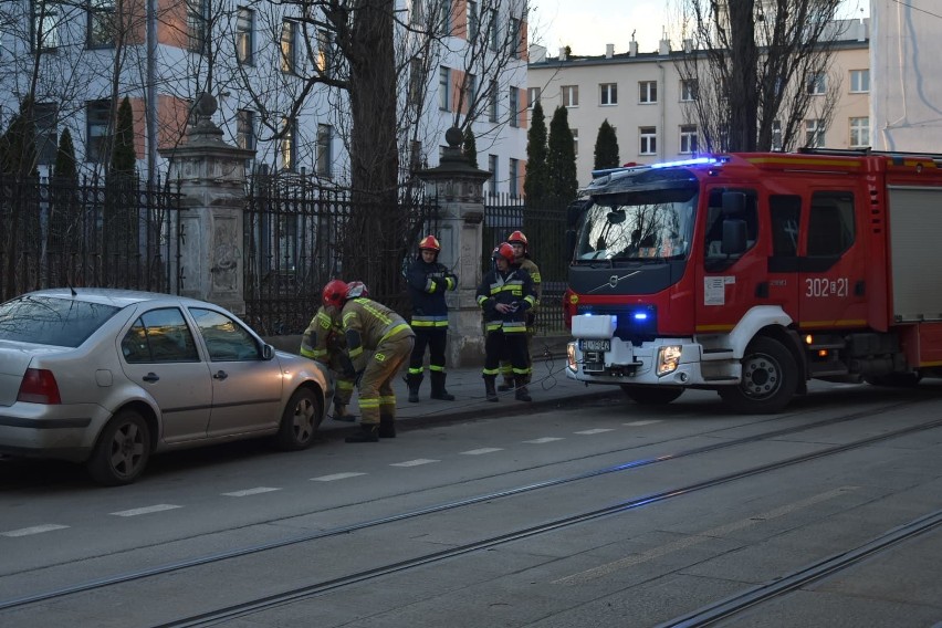
[[[409,357],[415,334],[401,316],[365,296],[366,286],[334,280],[324,286],[324,305],[339,312],[353,373],[359,388],[359,433],[347,442],[396,438],[393,379]],[[367,358],[365,352],[373,352]]]

